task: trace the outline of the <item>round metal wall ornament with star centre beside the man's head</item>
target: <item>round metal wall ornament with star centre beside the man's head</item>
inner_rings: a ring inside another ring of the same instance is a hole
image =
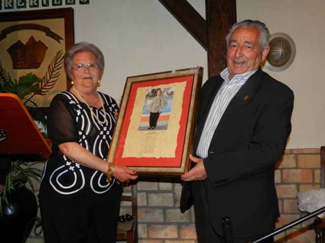
[[[296,56],[296,45],[287,34],[272,34],[269,45],[270,51],[264,65],[268,70],[281,72],[293,63]]]

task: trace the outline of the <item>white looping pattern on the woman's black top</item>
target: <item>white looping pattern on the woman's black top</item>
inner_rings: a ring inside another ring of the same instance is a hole
[[[73,107],[76,116],[75,121],[77,124],[79,124],[78,143],[88,151],[92,152],[94,155],[99,156],[105,160],[107,154],[105,154],[104,151],[107,151],[109,149],[109,141],[111,141],[112,138],[111,132],[113,132],[113,124],[116,121],[113,113],[117,111],[117,106],[115,103],[113,103],[112,100],[109,100],[110,102],[108,102],[107,97],[99,93],[103,102],[109,107],[109,112],[105,112],[105,109],[95,109],[95,111],[88,113],[86,109],[82,108],[79,100],[71,92],[65,91],[60,94],[66,96],[69,99],[69,105]],[[95,116],[101,120],[104,120],[105,123],[99,122],[99,119],[94,118],[93,114],[95,114]],[[88,138],[90,132],[93,131],[93,129],[97,131],[97,135],[95,137],[92,136],[92,139],[94,138],[94,142],[92,145],[90,145]],[[87,168],[79,163],[70,160],[63,154],[62,161],[64,164],[54,169],[49,179],[50,185],[59,194],[74,194],[82,190],[85,187],[86,183],[89,183],[88,187],[91,188],[94,193],[103,194],[110,190],[114,183],[119,184],[119,182],[114,178],[110,183],[107,183],[105,173],[102,173],[100,171],[94,171],[92,175],[89,175],[88,178],[90,177],[90,180],[88,179],[89,181],[87,182],[85,176],[85,170]],[[45,174],[45,169],[43,171],[42,179]],[[65,178],[69,179],[67,180]]]

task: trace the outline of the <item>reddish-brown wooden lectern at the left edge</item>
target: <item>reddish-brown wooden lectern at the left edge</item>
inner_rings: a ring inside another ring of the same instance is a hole
[[[17,95],[0,93],[0,117],[0,129],[7,131],[0,154],[49,157],[51,141],[44,138]]]

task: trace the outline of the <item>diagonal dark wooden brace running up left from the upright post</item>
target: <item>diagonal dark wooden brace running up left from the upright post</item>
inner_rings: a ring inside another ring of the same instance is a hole
[[[186,0],[159,0],[159,2],[165,6],[205,50],[208,50],[206,21]]]

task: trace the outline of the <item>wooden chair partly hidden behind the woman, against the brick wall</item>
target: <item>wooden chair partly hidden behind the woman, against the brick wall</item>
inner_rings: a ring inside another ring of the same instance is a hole
[[[133,220],[119,222],[117,225],[116,241],[127,243],[138,243],[138,205],[137,205],[137,184],[131,185],[131,195],[122,195],[121,201],[131,202]]]

